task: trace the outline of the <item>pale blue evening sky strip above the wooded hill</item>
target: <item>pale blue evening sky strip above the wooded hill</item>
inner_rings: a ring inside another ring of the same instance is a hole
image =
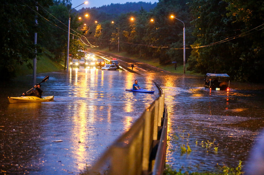
[[[86,0],[72,0],[72,8],[77,7],[78,5],[84,3]],[[151,2],[152,4],[155,2],[158,2],[158,0],[87,0],[87,4],[83,4],[79,7],[76,8],[76,10],[82,9],[82,8],[92,8],[92,7],[101,7],[103,5],[110,5],[111,3],[113,4],[124,4],[126,2]]]

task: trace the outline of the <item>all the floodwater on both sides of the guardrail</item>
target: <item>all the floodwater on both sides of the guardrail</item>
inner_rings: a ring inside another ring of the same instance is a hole
[[[31,88],[31,77],[1,85],[2,173],[78,174],[159,96],[152,80],[162,87],[168,109],[167,164],[191,172],[246,161],[264,126],[264,90],[231,83],[230,91],[209,91],[201,77],[142,74],[82,68],[38,74],[37,82],[50,76],[42,84],[43,96],[55,96],[45,103],[8,103],[7,96]],[[155,93],[124,91],[134,79]],[[183,145],[191,152],[181,152]]]

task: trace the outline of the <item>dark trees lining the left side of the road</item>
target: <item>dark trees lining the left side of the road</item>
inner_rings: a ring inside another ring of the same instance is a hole
[[[69,0],[12,1],[6,0],[0,7],[0,72],[5,78],[14,75],[17,65],[33,67],[32,60],[50,51],[51,59],[60,61],[66,58],[68,18],[71,3]],[[71,13],[70,28],[81,34],[81,22],[76,13]],[[56,18],[57,19],[56,19]],[[35,23],[37,18],[38,24]],[[37,32],[37,45],[34,36]],[[71,31],[71,33],[74,33]],[[81,36],[74,33],[77,36]],[[75,36],[70,42],[70,53],[84,49],[84,44]]]

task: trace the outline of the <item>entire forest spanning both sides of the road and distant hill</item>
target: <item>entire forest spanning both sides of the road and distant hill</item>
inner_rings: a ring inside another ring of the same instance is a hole
[[[37,55],[53,53],[54,61],[65,60],[70,16],[72,55],[85,47],[107,47],[158,58],[160,64],[182,64],[184,28],[187,70],[227,73],[238,82],[264,81],[262,1],[160,0],[72,8],[70,0],[3,2],[2,75],[12,75],[17,64],[32,67],[35,50]]]

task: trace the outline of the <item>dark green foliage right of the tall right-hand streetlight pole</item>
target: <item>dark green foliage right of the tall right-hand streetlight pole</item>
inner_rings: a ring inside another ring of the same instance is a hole
[[[192,47],[216,43],[233,36],[240,37],[193,49],[188,70],[227,73],[236,81],[262,80],[264,52],[261,45],[264,33],[255,27],[263,24],[263,3],[195,0],[190,3],[190,7],[195,17],[192,21],[195,26],[193,34],[197,37]]]

